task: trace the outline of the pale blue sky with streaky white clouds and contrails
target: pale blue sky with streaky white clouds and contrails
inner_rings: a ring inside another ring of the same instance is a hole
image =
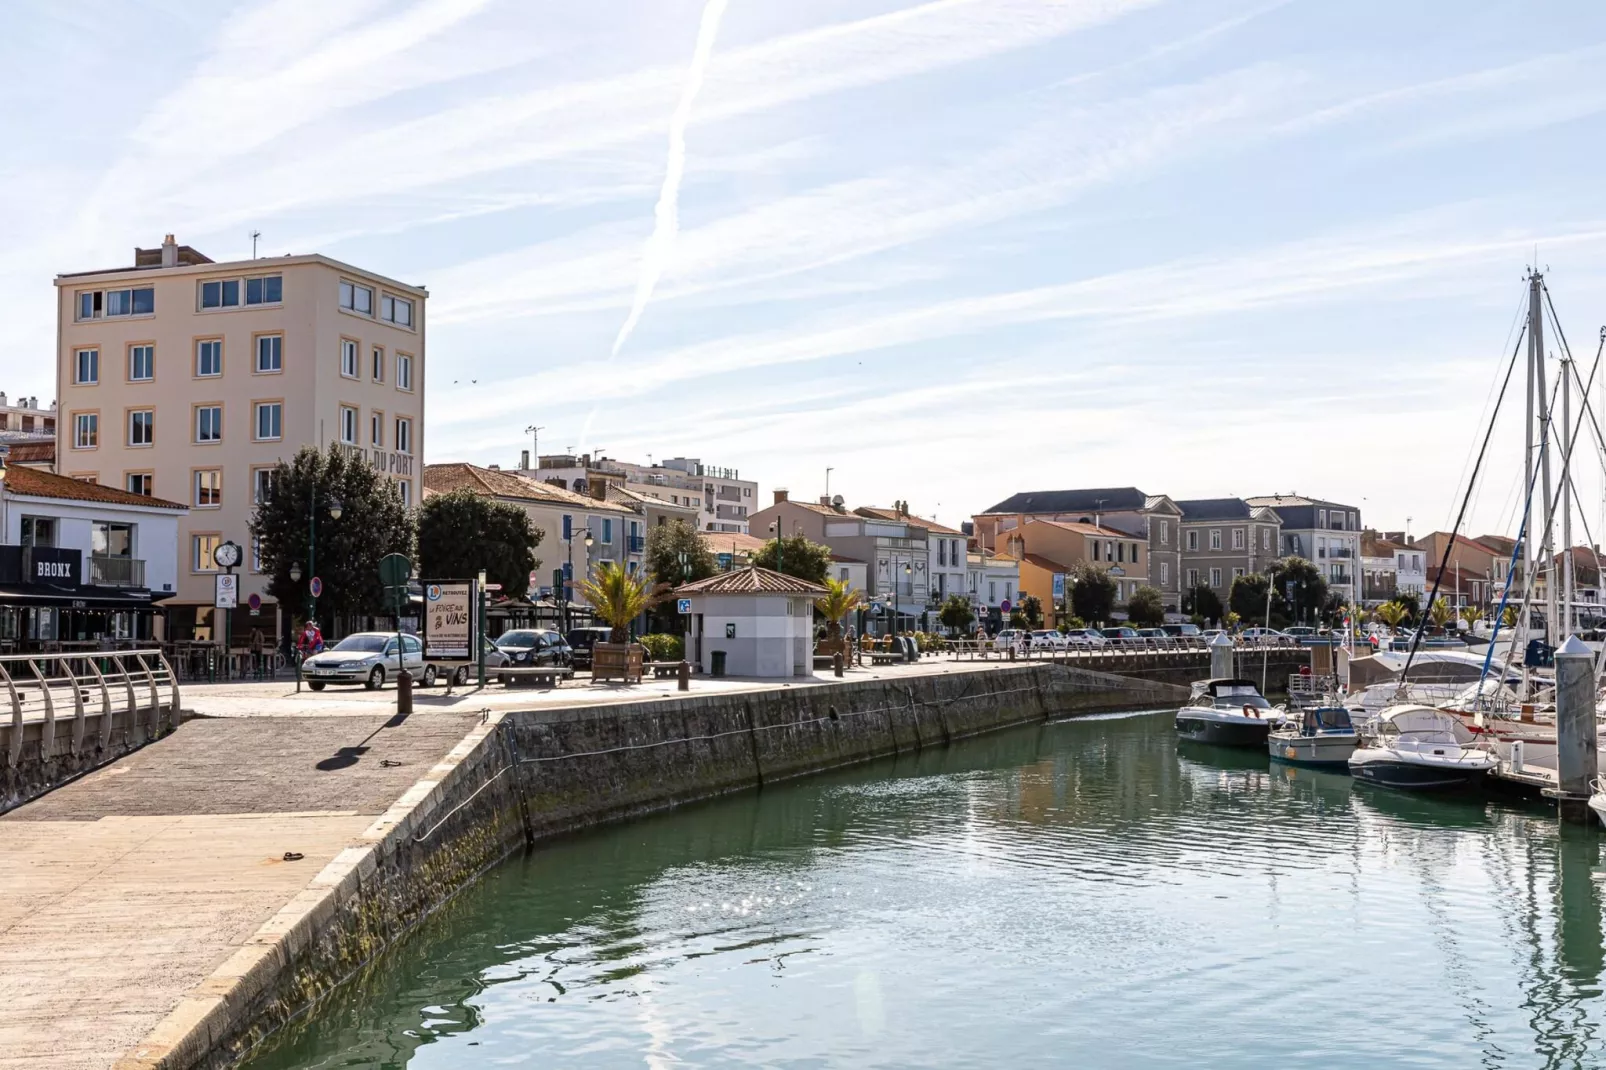
[[[432,463],[511,466],[540,426],[541,453],[699,456],[764,500],[830,468],[850,504],[948,524],[1137,485],[1425,532],[1460,506],[1527,268],[1585,374],[1606,323],[1590,0],[21,0],[6,21],[13,395],[53,394],[56,272],[169,231],[244,259],[255,230],[263,255],[429,288]],[[1521,403],[1518,378],[1474,533],[1514,529]],[[1606,541],[1601,464],[1575,463]]]

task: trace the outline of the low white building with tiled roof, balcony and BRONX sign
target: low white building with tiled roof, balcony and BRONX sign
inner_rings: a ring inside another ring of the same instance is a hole
[[[165,638],[186,506],[35,468],[0,479],[0,651]]]

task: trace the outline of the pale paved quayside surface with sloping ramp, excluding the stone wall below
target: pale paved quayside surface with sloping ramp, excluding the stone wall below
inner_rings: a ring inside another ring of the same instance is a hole
[[[1012,672],[1031,667],[927,660],[846,683]],[[695,678],[691,694],[842,683]],[[206,1044],[241,990],[289,966],[331,890],[503,715],[676,697],[673,680],[437,689],[398,718],[393,692],[186,689],[196,718],[177,733],[0,818],[0,1068],[190,1065],[199,1052],[178,1046]]]

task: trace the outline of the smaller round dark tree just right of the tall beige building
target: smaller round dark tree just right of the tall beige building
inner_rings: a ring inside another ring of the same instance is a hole
[[[543,532],[530,514],[458,488],[432,495],[418,511],[418,572],[430,580],[466,580],[480,569],[503,594],[522,596],[541,561],[535,548]]]

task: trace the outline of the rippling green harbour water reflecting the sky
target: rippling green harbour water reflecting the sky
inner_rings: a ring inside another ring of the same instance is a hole
[[[1595,829],[1004,733],[490,874],[287,1067],[1606,1067]]]

